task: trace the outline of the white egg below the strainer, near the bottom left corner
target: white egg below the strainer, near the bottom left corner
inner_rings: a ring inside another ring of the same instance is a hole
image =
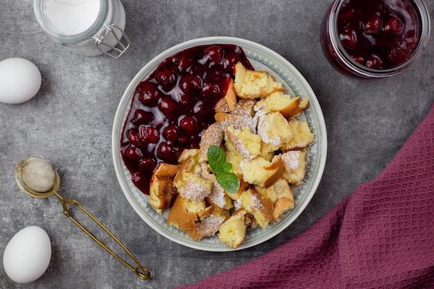
[[[3,268],[17,283],[30,283],[44,274],[51,260],[51,241],[41,227],[21,229],[6,245]]]

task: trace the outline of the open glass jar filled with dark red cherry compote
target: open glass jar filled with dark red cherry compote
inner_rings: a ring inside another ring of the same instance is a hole
[[[338,71],[383,78],[419,58],[430,27],[422,0],[336,0],[322,21],[321,46]]]

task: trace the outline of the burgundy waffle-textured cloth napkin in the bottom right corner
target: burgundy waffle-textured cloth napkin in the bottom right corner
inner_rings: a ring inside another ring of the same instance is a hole
[[[434,106],[376,179],[312,227],[179,288],[434,288]]]

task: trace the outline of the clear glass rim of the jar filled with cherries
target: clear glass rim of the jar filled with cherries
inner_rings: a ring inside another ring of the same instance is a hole
[[[424,48],[428,44],[429,36],[431,33],[431,21],[428,14],[428,8],[426,7],[424,1],[422,0],[403,0],[407,1],[409,3],[414,3],[412,5],[413,8],[415,8],[415,12],[417,13],[417,16],[419,17],[420,22],[420,35],[419,40],[417,42],[417,47],[414,49],[413,53],[410,55],[410,57],[402,62],[401,64],[397,65],[396,67],[390,67],[388,69],[371,69],[369,67],[364,66],[363,64],[360,64],[353,60],[351,56],[345,51],[344,47],[340,43],[339,35],[338,35],[338,14],[340,12],[340,8],[344,1],[347,0],[337,0],[333,3],[331,10],[330,10],[330,17],[327,25],[329,26],[328,30],[330,33],[330,41],[331,45],[336,50],[336,55],[342,61],[347,67],[351,67],[351,69],[354,70],[354,72],[360,74],[361,76],[370,77],[370,78],[382,78],[385,76],[392,76],[395,75],[401,71],[406,70],[408,67],[410,67],[415,61],[419,58],[419,56],[422,54],[422,51],[424,51]]]

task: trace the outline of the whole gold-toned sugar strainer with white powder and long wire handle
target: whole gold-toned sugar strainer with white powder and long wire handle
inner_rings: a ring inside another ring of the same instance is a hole
[[[107,252],[114,256],[114,258],[116,258],[119,262],[123,263],[123,265],[134,271],[140,279],[146,280],[150,277],[150,271],[141,265],[136,257],[134,257],[134,255],[132,255],[132,253],[121,243],[121,241],[119,241],[118,238],[116,238],[106,227],[104,227],[101,222],[96,220],[96,218],[92,216],[92,214],[89,213],[85,208],[83,208],[76,200],[64,199],[57,193],[60,185],[60,177],[57,170],[55,170],[49,161],[37,158],[28,158],[20,161],[15,168],[15,180],[19,186],[19,189],[24,191],[24,193],[31,195],[32,197],[49,198],[51,195],[58,197],[60,204],[62,204],[64,215],[67,216],[80,229],[85,231],[90,238],[92,238],[96,243],[98,243]],[[138,266],[134,268],[132,265],[125,262],[106,245],[101,243],[101,241],[98,240],[94,235],[87,231],[85,227],[80,225],[80,223],[70,215],[67,204],[77,206],[84,211],[89,218],[94,220],[96,224],[103,228],[104,231],[109,234],[109,236],[112,237],[116,243],[118,243],[122,249],[128,253],[128,255],[130,255],[130,257],[137,263]]]

